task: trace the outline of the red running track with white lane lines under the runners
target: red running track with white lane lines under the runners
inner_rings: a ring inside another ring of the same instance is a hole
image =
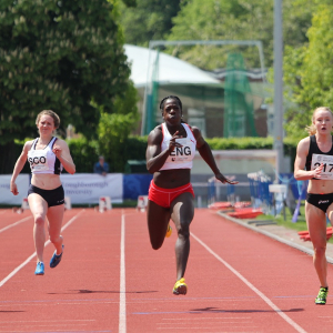
[[[145,213],[74,209],[62,234],[61,264],[34,276],[30,213],[0,211],[0,332],[332,332],[312,258],[215,212],[195,211],[185,296],[176,235],[153,251]]]

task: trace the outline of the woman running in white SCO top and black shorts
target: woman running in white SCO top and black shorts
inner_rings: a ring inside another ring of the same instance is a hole
[[[40,137],[24,143],[13,169],[10,191],[14,195],[19,193],[16,179],[28,159],[32,171],[28,202],[34,220],[33,240],[37,252],[34,274],[43,275],[44,223],[48,220],[50,241],[56,248],[50,268],[56,268],[61,261],[63,249],[63,239],[60,232],[64,212],[64,195],[60,172],[63,165],[69,173],[73,174],[75,165],[65,141],[53,138],[53,131],[60,124],[58,114],[51,110],[41,111],[37,117],[36,124]]]

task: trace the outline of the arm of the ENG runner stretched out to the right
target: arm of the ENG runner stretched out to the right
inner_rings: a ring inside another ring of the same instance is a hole
[[[215,159],[213,157],[212,150],[210,145],[206,143],[206,141],[203,139],[201,131],[193,127],[191,128],[194,134],[194,138],[196,140],[196,149],[202,157],[202,159],[206,162],[206,164],[212,169],[212,171],[215,174],[215,178],[221,181],[222,183],[229,183],[229,184],[238,184],[238,181],[232,181],[228,178],[225,178],[221,171],[219,170]]]

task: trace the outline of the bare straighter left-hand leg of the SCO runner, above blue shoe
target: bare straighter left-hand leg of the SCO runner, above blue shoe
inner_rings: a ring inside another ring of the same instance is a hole
[[[46,216],[48,203],[37,193],[28,195],[30,211],[33,215],[33,241],[37,253],[37,262],[43,262],[43,251],[46,243]]]

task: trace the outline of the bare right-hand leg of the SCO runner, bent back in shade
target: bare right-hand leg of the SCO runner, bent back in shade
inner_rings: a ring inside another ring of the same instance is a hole
[[[48,221],[49,221],[49,236],[51,243],[54,245],[57,250],[57,254],[61,254],[62,252],[62,235],[61,235],[61,226],[62,219],[64,213],[64,205],[53,205],[48,210]]]

